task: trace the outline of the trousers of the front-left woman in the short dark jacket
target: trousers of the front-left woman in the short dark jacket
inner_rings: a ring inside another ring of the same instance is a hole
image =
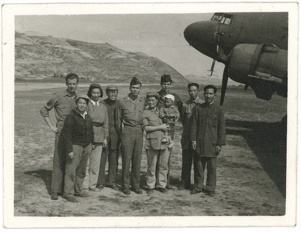
[[[87,161],[92,145],[86,147],[72,145],[74,158],[67,157],[64,182],[64,197],[72,197],[83,192],[82,184],[86,176]]]

